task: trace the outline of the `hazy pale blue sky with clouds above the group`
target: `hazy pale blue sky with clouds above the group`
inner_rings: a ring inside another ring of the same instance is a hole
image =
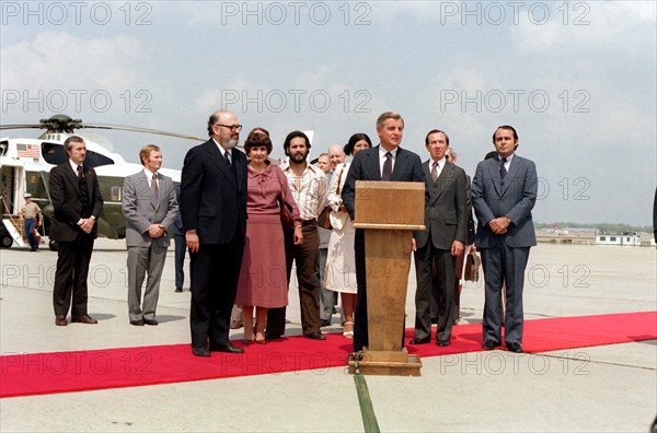
[[[654,1],[0,1],[1,124],[57,113],[206,137],[210,113],[312,154],[350,134],[377,141],[402,114],[402,147],[448,132],[469,174],[514,125],[537,163],[534,220],[652,224],[657,183]],[[36,137],[34,130],[7,132]],[[194,142],[108,132],[138,162]]]

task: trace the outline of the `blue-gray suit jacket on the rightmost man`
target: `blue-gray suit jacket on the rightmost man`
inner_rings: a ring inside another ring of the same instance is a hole
[[[472,180],[472,204],[479,220],[476,247],[492,248],[500,242],[512,248],[537,245],[531,210],[538,188],[537,167],[530,160],[514,154],[504,185],[497,156],[480,162]],[[511,220],[503,235],[496,235],[488,226],[498,216]]]

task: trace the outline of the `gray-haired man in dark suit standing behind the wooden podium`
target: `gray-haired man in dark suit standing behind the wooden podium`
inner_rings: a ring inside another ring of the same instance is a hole
[[[377,119],[380,145],[358,152],[349,167],[342,197],[351,220],[355,220],[356,180],[424,182],[422,161],[415,153],[401,149],[404,119],[396,113],[383,113]],[[356,230],[354,241],[356,255],[356,323],[354,326],[354,350],[360,351],[368,344],[367,283],[365,262],[365,233]],[[376,269],[372,271],[377,271]],[[403,336],[401,336],[403,338]]]

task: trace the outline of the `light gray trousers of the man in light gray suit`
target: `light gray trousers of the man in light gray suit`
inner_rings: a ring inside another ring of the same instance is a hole
[[[155,317],[158,297],[160,296],[160,279],[166,259],[166,248],[157,243],[150,247],[128,247],[128,314],[130,320]],[[146,281],[143,302],[141,286]]]

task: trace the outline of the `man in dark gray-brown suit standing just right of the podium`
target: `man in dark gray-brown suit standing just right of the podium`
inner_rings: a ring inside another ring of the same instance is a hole
[[[463,168],[448,162],[445,152],[449,137],[433,129],[425,138],[429,161],[423,164],[429,203],[425,209],[424,231],[415,239],[415,338],[411,344],[431,340],[431,292],[438,304],[436,343],[449,346],[453,324],[454,259],[463,251],[468,238],[466,179]],[[431,276],[435,265],[436,276]],[[436,279],[434,282],[433,280]]]

